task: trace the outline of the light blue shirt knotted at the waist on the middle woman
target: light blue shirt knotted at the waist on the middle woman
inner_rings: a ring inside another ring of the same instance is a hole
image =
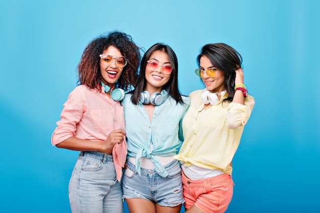
[[[155,171],[162,177],[167,177],[167,171],[155,155],[176,155],[182,140],[179,123],[190,105],[190,99],[182,96],[185,104],[177,104],[171,96],[168,96],[161,105],[155,106],[150,122],[143,104],[141,102],[138,105],[132,104],[131,96],[132,94],[126,94],[121,103],[125,115],[127,158],[136,158],[135,169],[138,173],[140,173],[140,158],[150,158]]]

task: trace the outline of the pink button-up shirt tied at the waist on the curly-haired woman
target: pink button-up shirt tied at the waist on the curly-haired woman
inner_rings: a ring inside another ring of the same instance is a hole
[[[110,99],[101,87],[101,92],[77,86],[63,105],[61,120],[52,134],[52,145],[75,136],[86,140],[104,141],[111,130],[125,130],[124,111],[121,104]],[[113,162],[120,181],[122,167],[127,155],[127,144],[116,144],[112,150]]]

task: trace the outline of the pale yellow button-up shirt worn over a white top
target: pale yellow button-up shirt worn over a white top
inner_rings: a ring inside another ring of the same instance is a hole
[[[232,173],[230,165],[238,149],[244,125],[254,108],[255,100],[247,96],[244,105],[222,101],[203,109],[201,94],[190,93],[190,107],[182,121],[184,143],[175,156],[185,167],[192,164],[203,169]]]

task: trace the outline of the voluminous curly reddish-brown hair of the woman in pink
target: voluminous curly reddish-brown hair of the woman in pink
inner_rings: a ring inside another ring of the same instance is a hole
[[[127,65],[123,67],[120,78],[115,82],[116,88],[128,91],[131,86],[135,87],[138,80],[141,60],[140,48],[132,41],[131,36],[119,31],[110,32],[106,36],[99,36],[87,45],[78,64],[78,83],[86,85],[90,89],[101,90],[102,77],[99,55],[109,46],[115,46],[128,60]]]

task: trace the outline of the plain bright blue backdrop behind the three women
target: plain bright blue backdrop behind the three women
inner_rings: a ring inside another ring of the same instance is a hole
[[[256,106],[227,212],[319,212],[319,9],[311,0],[1,1],[0,211],[71,212],[78,152],[53,147],[51,134],[84,48],[120,30],[146,50],[169,44],[187,95],[203,88],[193,73],[202,45],[238,50]]]

